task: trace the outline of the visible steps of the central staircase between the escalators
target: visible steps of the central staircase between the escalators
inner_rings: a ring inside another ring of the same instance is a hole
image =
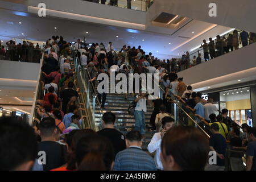
[[[97,92],[97,86],[98,82],[95,83],[95,88]],[[110,83],[109,83],[110,88]],[[121,133],[126,135],[129,131],[133,130],[135,127],[135,118],[133,115],[130,115],[127,111],[130,102],[135,100],[135,97],[133,97],[131,94],[128,94],[127,100],[125,100],[124,94],[116,94],[116,93],[110,93],[106,96],[106,102],[105,102],[105,109],[103,109],[103,112],[112,111],[112,113],[115,114],[115,129],[119,130]],[[99,107],[96,104],[96,107]],[[146,120],[146,139],[143,141],[142,149],[144,151],[147,151],[147,145],[150,142],[152,135],[154,135],[154,132],[149,131],[147,128],[147,125],[150,123],[150,117],[152,114],[152,107],[150,105],[147,105],[147,113],[145,113],[145,120]],[[96,125],[101,125],[101,113],[100,110],[95,110],[95,119],[96,119]]]

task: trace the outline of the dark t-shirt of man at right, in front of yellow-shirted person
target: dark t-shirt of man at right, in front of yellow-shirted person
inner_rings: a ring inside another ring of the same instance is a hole
[[[213,147],[218,154],[225,156],[226,154],[226,139],[221,134],[213,134],[210,137],[209,146]],[[217,156],[217,165],[225,166],[225,159],[220,159]]]

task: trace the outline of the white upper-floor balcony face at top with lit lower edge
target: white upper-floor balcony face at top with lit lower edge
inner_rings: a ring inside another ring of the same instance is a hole
[[[119,20],[123,22],[142,24],[142,28],[144,28],[144,24],[146,22],[146,13],[143,11],[122,9],[121,7],[106,6],[98,3],[86,2],[81,0],[28,0],[28,11],[31,13],[35,13],[33,9],[30,9],[30,6],[38,7],[39,3],[42,2],[46,4],[47,10],[57,10],[72,14],[87,15],[92,16],[93,18],[104,18],[108,20],[105,22],[108,22],[109,24],[115,26],[118,26],[118,24],[119,26],[123,25],[121,24],[121,22],[113,22],[111,20]],[[71,17],[72,15],[69,15],[69,18]],[[100,20],[98,20],[97,18],[86,19],[86,17],[82,17],[84,21],[94,21],[93,23],[100,23]],[[127,26],[133,28],[131,27],[131,24],[127,24]]]

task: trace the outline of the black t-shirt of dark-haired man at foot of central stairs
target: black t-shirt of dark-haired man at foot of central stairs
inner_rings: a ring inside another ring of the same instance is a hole
[[[117,155],[119,151],[125,150],[125,136],[121,132],[117,131],[116,129],[103,129],[97,133],[108,138],[112,142],[115,155]]]

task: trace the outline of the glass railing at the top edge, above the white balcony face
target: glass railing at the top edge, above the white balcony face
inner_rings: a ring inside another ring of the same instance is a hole
[[[94,3],[100,3],[102,5],[116,6],[125,9],[147,11],[153,4],[153,0],[81,0]]]

